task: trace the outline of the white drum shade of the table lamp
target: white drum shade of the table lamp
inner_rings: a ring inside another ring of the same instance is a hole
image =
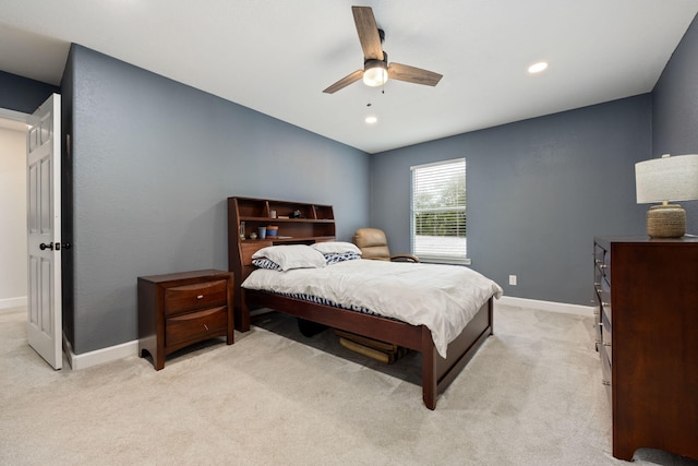
[[[638,204],[698,199],[698,154],[637,163],[635,183]]]

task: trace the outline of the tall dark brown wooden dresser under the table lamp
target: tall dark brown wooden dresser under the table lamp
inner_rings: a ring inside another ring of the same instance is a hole
[[[698,238],[594,238],[594,288],[613,456],[698,459]]]

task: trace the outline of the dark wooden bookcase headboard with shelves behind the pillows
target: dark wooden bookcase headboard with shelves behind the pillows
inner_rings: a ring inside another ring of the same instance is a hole
[[[276,215],[276,216],[273,216]],[[260,227],[277,226],[276,237],[251,239]],[[239,331],[250,327],[242,315],[240,284],[252,273],[252,254],[273,244],[310,244],[335,240],[332,205],[255,198],[228,198],[228,270],[234,272],[234,323]]]

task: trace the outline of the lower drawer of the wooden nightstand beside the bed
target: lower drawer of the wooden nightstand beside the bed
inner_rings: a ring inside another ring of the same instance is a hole
[[[169,318],[165,325],[165,346],[171,347],[218,331],[225,332],[227,324],[228,308],[225,306]]]

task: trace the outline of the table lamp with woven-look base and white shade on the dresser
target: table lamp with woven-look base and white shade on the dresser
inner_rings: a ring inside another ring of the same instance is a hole
[[[698,199],[698,154],[663,155],[635,164],[638,204],[653,205],[647,212],[650,238],[681,238],[686,232],[686,211],[669,201]]]

